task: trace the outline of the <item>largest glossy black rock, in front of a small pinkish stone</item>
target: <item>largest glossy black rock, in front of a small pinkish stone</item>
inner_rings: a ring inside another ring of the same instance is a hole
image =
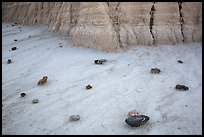
[[[125,119],[125,122],[131,127],[139,127],[145,124],[149,120],[148,116],[145,115],[137,115],[134,117],[128,117]]]

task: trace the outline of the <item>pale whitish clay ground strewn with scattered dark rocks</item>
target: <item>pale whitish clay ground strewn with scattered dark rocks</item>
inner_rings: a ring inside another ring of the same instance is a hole
[[[2,24],[3,135],[202,134],[202,43],[108,53],[74,47],[46,26],[20,27]],[[151,74],[153,67],[161,73]],[[48,82],[37,86],[45,75]],[[88,84],[93,88],[86,90]],[[176,84],[189,90],[177,91]],[[129,127],[125,119],[134,109],[150,120]],[[73,114],[80,120],[70,122]]]

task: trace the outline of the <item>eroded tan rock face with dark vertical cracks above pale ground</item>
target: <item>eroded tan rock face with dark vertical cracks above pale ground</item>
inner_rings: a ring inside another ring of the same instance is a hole
[[[4,2],[2,20],[47,24],[76,45],[106,51],[202,41],[201,2]]]

